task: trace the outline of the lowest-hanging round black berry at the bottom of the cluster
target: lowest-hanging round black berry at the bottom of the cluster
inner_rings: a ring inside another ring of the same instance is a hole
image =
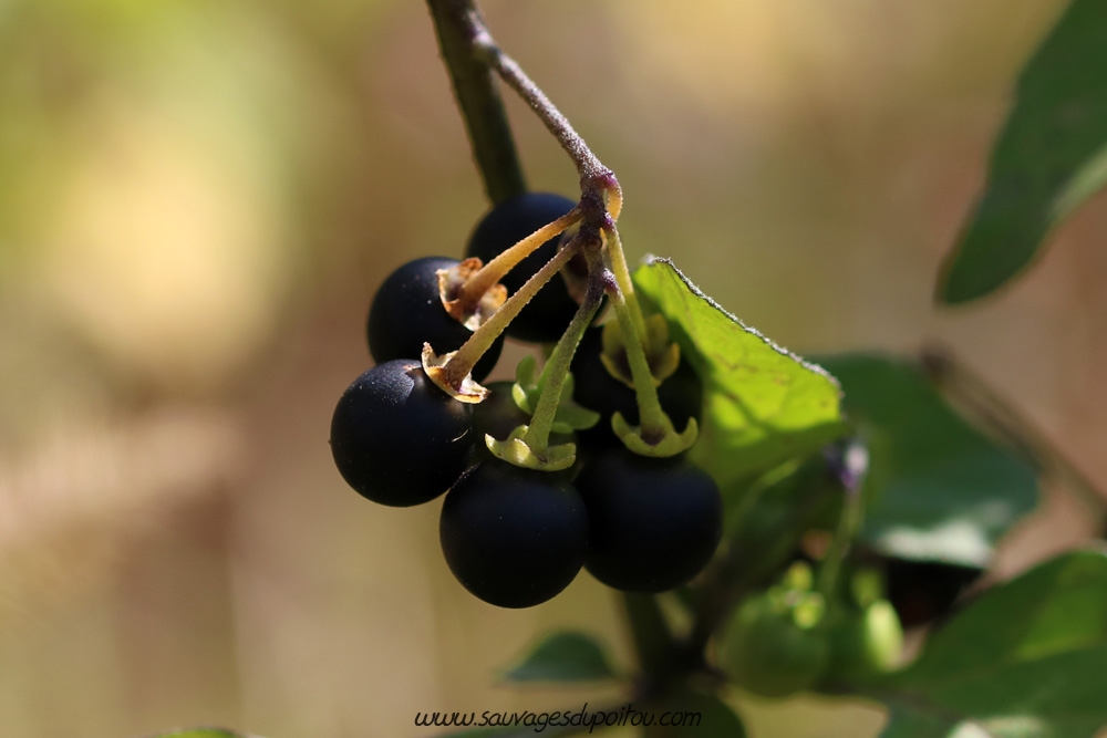
[[[457,581],[500,607],[558,594],[588,547],[588,514],[566,476],[499,460],[482,462],[449,490],[438,530]]]

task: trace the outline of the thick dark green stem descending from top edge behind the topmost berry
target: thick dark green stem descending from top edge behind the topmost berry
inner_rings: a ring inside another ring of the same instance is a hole
[[[427,0],[442,59],[465,121],[485,191],[493,204],[527,191],[504,101],[487,64],[474,53],[484,21],[473,0]]]

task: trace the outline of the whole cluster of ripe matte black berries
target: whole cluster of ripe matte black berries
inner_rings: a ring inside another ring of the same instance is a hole
[[[527,194],[497,205],[469,239],[466,257],[488,262],[576,206],[548,194]],[[500,280],[514,294],[554,258],[565,239],[552,238]],[[581,567],[625,591],[661,592],[695,576],[714,554],[723,508],[712,478],[683,455],[648,458],[627,450],[611,429],[615,412],[638,423],[634,391],[600,360],[598,326],[589,328],[573,356],[575,399],[600,414],[591,429],[561,433],[551,443],[576,444],[576,462],[558,471],[515,466],[493,455],[485,437],[503,440],[530,416],[513,398],[513,383],[487,385],[480,403],[459,402],[427,376],[424,342],[444,354],[473,335],[451,316],[439,291],[439,270],[455,259],[428,257],[393,272],[369,315],[369,346],[376,366],[339,399],[331,449],[342,477],[370,500],[393,507],[446,493],[442,549],[451,571],[473,594],[504,607],[549,600]],[[562,273],[583,262],[570,260]],[[555,278],[518,313],[506,334],[551,343],[579,308]],[[483,381],[498,358],[503,336],[473,367]],[[702,387],[686,361],[658,388],[676,428],[699,417]],[[558,434],[555,434],[557,436]]]

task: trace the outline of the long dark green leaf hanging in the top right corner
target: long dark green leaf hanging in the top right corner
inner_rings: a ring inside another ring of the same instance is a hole
[[[1018,80],[987,185],[946,258],[938,299],[983,297],[1107,184],[1107,3],[1074,0]]]

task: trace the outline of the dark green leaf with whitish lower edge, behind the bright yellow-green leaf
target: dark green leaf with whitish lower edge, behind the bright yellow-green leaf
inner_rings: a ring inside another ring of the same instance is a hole
[[[902,559],[984,567],[1037,503],[1034,469],[965,423],[922,370],[877,354],[825,356],[869,448],[862,540]]]

